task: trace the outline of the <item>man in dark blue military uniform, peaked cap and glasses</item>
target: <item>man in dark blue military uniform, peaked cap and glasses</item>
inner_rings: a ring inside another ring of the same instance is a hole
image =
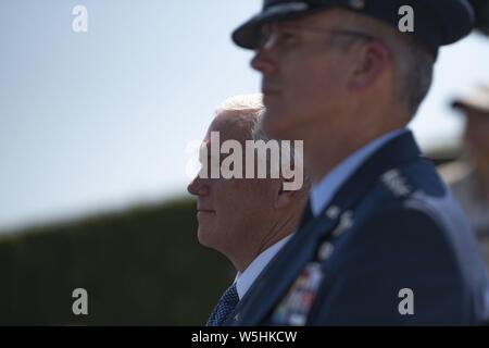
[[[473,233],[405,128],[473,21],[464,0],[265,0],[234,32],[255,50],[265,132],[304,140],[314,185],[226,324],[482,323]]]

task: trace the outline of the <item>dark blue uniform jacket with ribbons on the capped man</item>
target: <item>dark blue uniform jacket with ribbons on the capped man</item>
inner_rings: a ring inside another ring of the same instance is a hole
[[[408,132],[302,223],[227,325],[477,325],[487,290],[473,232]]]

